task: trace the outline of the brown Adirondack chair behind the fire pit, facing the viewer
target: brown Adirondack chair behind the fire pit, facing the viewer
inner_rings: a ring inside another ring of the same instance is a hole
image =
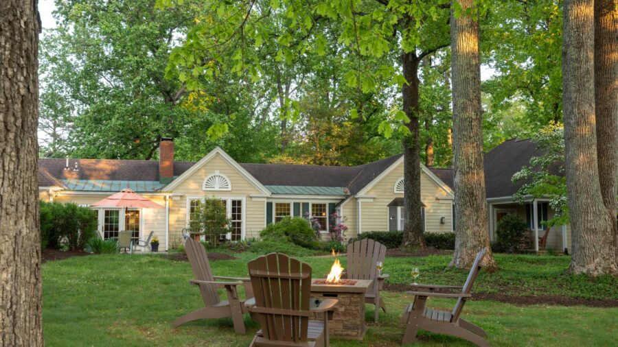
[[[386,256],[386,246],[372,239],[362,239],[347,245],[347,270],[346,276],[355,280],[373,280],[374,283],[367,288],[365,293],[365,303],[374,304],[374,322],[378,322],[378,312],[380,309],[386,312],[384,299],[380,298],[380,290],[384,286],[384,280],[389,275],[378,276],[376,263],[384,262]]]

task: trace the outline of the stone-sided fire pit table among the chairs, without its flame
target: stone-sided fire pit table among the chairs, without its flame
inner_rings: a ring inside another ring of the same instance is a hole
[[[344,339],[363,339],[365,336],[365,292],[370,280],[356,280],[354,285],[324,285],[323,280],[314,280],[311,286],[314,300],[337,299],[332,319],[329,322],[330,336]],[[316,283],[317,282],[317,283]],[[319,319],[312,317],[310,319]]]

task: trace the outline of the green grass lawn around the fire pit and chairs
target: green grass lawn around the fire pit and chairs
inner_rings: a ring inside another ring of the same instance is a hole
[[[214,274],[246,276],[247,261],[256,254],[235,254],[237,260],[211,262]],[[314,276],[328,272],[332,258],[302,258]],[[444,270],[450,256],[387,258],[391,283],[409,283],[409,269],[421,269],[420,282],[463,283],[465,272]],[[560,295],[572,298],[618,299],[617,278],[590,280],[564,272],[566,256],[496,256],[501,271],[481,272],[477,291],[516,295]],[[203,320],[172,328],[179,316],[201,307],[198,289],[190,286],[190,265],[162,256],[98,255],[52,261],[43,265],[43,324],[47,346],[248,346],[258,325],[247,317],[247,335],[233,333],[231,320]],[[402,338],[400,311],[412,297],[385,294],[389,313],[380,323],[367,306],[363,342],[331,339],[332,346],[396,346]],[[430,307],[451,309],[454,300],[431,299]],[[488,332],[492,346],[611,346],[618,335],[618,309],[517,307],[492,301],[469,301],[466,319]],[[470,346],[453,337],[421,332],[426,346]]]

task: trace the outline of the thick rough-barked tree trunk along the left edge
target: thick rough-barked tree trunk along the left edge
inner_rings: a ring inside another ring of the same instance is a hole
[[[0,346],[43,346],[35,1],[0,11]]]

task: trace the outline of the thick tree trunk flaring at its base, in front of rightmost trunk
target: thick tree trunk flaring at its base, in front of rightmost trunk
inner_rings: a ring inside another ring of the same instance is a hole
[[[564,1],[564,166],[573,241],[569,270],[598,276],[618,274],[618,264],[597,163],[594,40],[594,0]]]

